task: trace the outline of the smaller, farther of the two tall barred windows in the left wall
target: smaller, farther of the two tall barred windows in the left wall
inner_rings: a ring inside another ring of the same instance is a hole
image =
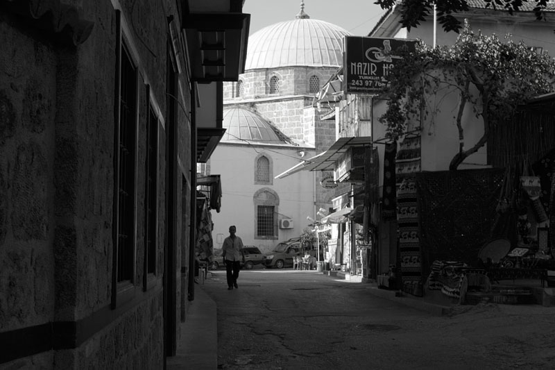
[[[156,274],[158,200],[158,117],[149,109],[146,139],[146,273]]]

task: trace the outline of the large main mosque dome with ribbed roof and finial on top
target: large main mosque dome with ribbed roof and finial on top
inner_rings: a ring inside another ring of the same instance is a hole
[[[304,3],[296,19],[262,28],[248,38],[245,71],[259,68],[343,65],[345,29],[310,19]]]

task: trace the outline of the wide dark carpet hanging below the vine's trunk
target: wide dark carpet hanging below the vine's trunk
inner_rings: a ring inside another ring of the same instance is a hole
[[[416,179],[424,274],[434,260],[472,265],[490,239],[504,169],[420,172]]]

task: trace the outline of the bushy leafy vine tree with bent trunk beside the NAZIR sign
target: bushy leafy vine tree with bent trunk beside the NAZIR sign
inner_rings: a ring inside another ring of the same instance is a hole
[[[450,169],[456,169],[468,155],[487,142],[494,125],[511,119],[519,104],[538,94],[555,90],[555,60],[538,54],[523,42],[499,40],[496,35],[475,34],[468,24],[452,47],[431,48],[419,42],[416,51],[404,53],[388,75],[388,108],[379,118],[387,125],[389,137],[402,135],[410,119],[430,117],[441,110],[441,99],[430,106],[430,96],[449,86],[459,94],[459,111],[454,117],[461,146]],[[472,94],[476,91],[478,94]],[[484,122],[484,135],[464,150],[465,108],[472,108]]]

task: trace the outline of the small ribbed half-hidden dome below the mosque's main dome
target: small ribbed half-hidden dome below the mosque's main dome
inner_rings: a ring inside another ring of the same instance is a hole
[[[284,135],[257,113],[245,108],[224,108],[223,128],[226,129],[221,141],[264,142],[286,144]]]

